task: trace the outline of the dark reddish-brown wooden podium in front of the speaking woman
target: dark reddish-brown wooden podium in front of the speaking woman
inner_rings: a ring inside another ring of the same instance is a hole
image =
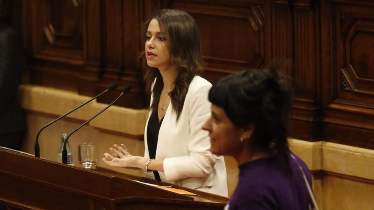
[[[86,170],[0,148],[0,203],[21,209],[220,209],[228,198],[173,185],[180,195],[142,183],[144,177],[97,168]]]

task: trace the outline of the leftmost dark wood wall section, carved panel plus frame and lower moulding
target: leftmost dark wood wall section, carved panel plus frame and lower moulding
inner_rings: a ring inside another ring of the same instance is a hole
[[[33,58],[30,82],[95,95],[101,72],[100,1],[18,3],[25,15],[24,46]]]

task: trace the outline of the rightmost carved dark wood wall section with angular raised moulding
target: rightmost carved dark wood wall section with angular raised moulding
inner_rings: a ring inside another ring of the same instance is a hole
[[[373,149],[374,4],[329,0],[323,6],[331,13],[322,23],[330,30],[322,32],[322,58],[331,65],[322,68],[323,139]]]

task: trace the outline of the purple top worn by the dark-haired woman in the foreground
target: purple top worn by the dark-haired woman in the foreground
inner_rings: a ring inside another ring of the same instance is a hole
[[[310,185],[310,172],[306,164],[294,156]],[[229,210],[308,209],[312,199],[296,160],[289,157],[289,174],[282,170],[275,158],[258,159],[240,165],[239,182],[230,199]]]

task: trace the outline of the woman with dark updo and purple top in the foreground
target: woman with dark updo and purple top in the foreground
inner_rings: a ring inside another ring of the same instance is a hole
[[[209,91],[203,125],[210,151],[230,155],[239,182],[226,209],[305,210],[314,201],[306,164],[287,143],[290,88],[277,67],[222,78]]]

